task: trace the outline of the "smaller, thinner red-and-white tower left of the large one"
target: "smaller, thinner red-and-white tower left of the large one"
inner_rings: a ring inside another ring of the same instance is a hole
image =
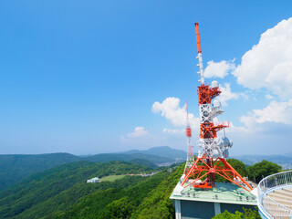
[[[192,138],[192,129],[190,126],[190,121],[189,121],[189,112],[188,112],[188,102],[186,102],[186,128],[185,128],[185,135],[187,139],[187,158],[186,158],[186,163],[184,167],[183,174],[188,172],[190,168],[193,165],[193,145],[191,143],[191,138]]]

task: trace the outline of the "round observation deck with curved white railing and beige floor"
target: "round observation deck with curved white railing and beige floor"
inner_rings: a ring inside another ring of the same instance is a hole
[[[292,218],[292,171],[267,176],[258,183],[257,191],[262,218]]]

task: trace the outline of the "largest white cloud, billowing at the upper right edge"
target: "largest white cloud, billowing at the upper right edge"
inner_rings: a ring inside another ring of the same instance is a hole
[[[282,99],[291,96],[292,18],[266,30],[233,74],[246,88],[266,88]]]

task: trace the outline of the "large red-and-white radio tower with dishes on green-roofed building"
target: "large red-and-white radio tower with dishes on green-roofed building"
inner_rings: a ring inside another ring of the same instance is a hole
[[[226,137],[217,138],[217,132],[229,127],[229,123],[214,122],[214,118],[223,112],[220,101],[214,99],[220,95],[221,91],[217,81],[213,81],[211,85],[207,85],[204,82],[199,24],[195,23],[194,25],[198,47],[198,67],[200,69],[198,74],[200,75],[199,82],[201,82],[198,87],[201,123],[200,140],[198,141],[198,157],[188,172],[183,175],[182,186],[187,187],[193,184],[195,188],[211,189],[216,186],[215,177],[219,175],[250,192],[253,188],[225,160],[228,157],[229,148],[233,145],[232,141],[229,141]]]

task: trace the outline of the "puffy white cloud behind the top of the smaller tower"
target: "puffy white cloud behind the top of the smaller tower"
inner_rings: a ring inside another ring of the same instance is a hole
[[[167,98],[162,103],[156,101],[152,105],[152,112],[161,113],[162,117],[170,120],[174,126],[185,127],[186,125],[186,110],[185,106],[180,108],[180,99]],[[189,121],[192,127],[198,127],[199,119],[189,113]]]

